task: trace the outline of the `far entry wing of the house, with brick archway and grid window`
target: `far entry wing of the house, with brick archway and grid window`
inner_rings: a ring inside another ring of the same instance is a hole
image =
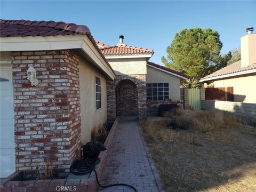
[[[119,36],[119,43],[113,46],[96,42],[117,75],[114,81],[107,81],[108,119],[122,115],[145,118],[157,115],[161,103],[180,101],[180,81],[189,77],[149,62],[153,50],[127,46],[123,39]]]

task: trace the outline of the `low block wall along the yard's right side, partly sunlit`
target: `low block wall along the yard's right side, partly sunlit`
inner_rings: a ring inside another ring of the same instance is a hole
[[[201,100],[202,110],[218,109],[226,114],[256,122],[256,104],[231,101]]]

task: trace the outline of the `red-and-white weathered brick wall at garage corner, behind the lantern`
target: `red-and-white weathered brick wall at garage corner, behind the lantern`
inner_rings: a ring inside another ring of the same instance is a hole
[[[33,172],[51,158],[68,171],[81,145],[79,59],[75,52],[13,52],[16,170]],[[27,69],[37,70],[31,86]]]

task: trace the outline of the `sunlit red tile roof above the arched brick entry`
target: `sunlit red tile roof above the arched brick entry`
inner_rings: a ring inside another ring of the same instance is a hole
[[[101,43],[96,41],[97,45],[100,48],[100,51],[105,56],[109,55],[128,55],[128,54],[153,54],[154,51],[150,49],[144,49],[141,47],[135,47],[135,46],[127,46],[125,44],[123,45],[113,45],[109,46],[107,44]]]

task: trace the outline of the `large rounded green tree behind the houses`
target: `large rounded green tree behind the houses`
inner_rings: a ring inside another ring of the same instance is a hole
[[[200,87],[199,79],[227,66],[231,53],[220,55],[222,43],[218,31],[212,29],[182,29],[175,34],[167,47],[167,58],[162,57],[165,67],[191,77],[184,85]]]

